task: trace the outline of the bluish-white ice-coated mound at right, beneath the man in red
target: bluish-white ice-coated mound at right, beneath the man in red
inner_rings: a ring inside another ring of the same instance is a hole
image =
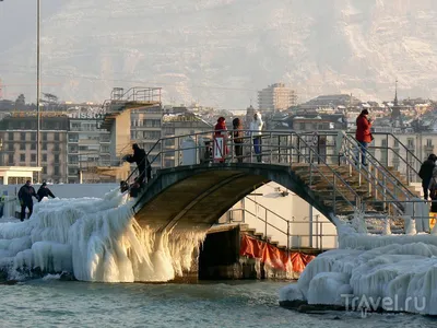
[[[365,235],[346,224],[338,232],[340,249],[309,262],[297,284],[280,292],[281,301],[344,305],[342,294],[353,294],[382,308],[381,300],[389,297],[394,311],[437,314],[435,235]]]

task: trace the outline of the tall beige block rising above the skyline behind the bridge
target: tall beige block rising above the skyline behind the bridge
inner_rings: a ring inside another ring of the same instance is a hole
[[[296,92],[284,83],[275,83],[258,92],[260,110],[285,110],[295,106],[296,102]]]

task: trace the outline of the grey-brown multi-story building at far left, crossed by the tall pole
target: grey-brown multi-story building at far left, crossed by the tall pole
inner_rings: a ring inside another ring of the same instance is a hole
[[[42,179],[67,181],[68,116],[63,113],[43,113],[40,118]],[[0,121],[0,165],[36,166],[36,112],[14,113]],[[35,177],[36,179],[36,177]]]

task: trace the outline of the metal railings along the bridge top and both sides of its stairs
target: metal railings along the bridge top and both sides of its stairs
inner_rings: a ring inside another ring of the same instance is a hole
[[[334,214],[338,213],[336,207],[341,201],[350,206],[351,209],[373,210],[374,212],[375,209],[371,209],[371,206],[376,202],[382,202],[387,204],[388,209],[378,210],[379,212],[387,211],[388,214],[395,213],[398,215],[403,212],[402,203],[416,197],[389,167],[378,161],[370,152],[367,154],[370,166],[361,166],[356,157],[356,141],[349,136],[343,136],[339,141],[339,133],[332,131],[322,134],[319,132],[308,134],[294,131],[262,131],[261,145],[257,149],[252,131],[240,130],[244,137],[237,139],[243,143],[235,142],[236,138],[233,138],[232,133],[229,136],[229,132],[233,131],[208,131],[161,138],[147,152],[150,163],[146,168],[152,165],[158,168],[168,168],[212,162],[267,162],[292,167],[297,163],[304,163],[308,166],[308,186],[310,188],[317,183],[315,183],[315,179],[323,180],[331,188],[331,199],[322,199],[322,201],[331,202]],[[221,160],[214,159],[212,154],[216,145],[215,137],[223,137],[226,141],[223,152],[218,153]],[[314,142],[315,138],[316,142]],[[346,147],[342,148],[339,142],[345,143]],[[243,154],[238,156],[236,155],[237,147],[243,148]],[[356,161],[357,165],[355,165]],[[359,196],[351,186],[349,179],[345,179],[338,172],[342,162],[349,166],[351,177],[353,171],[357,172],[359,186],[367,184],[368,194],[366,197]],[[304,167],[304,169],[306,168]],[[130,173],[128,183],[137,172],[138,168]],[[392,202],[385,202],[386,200]]]

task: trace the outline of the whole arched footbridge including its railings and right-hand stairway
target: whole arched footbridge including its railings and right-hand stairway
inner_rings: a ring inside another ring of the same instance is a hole
[[[162,168],[134,206],[140,224],[155,230],[211,226],[238,200],[269,181],[292,190],[331,221],[357,210],[395,216],[417,197],[410,180],[371,153],[367,154],[368,166],[356,165],[356,142],[345,134],[341,139],[332,132],[321,134],[321,147],[320,142],[311,144],[308,138],[295,132],[267,131],[261,150],[267,163],[258,162],[251,138],[245,138],[243,163],[233,152],[232,139],[226,140],[229,152],[225,163],[201,163],[204,144],[199,140],[203,136],[213,133],[163,138],[155,144],[161,150],[149,157],[152,163],[161,162]],[[187,139],[191,147],[181,142]],[[173,147],[166,149],[166,144]],[[182,159],[184,152],[191,152],[192,165],[163,165],[167,155]],[[409,171],[415,172],[414,167]]]

